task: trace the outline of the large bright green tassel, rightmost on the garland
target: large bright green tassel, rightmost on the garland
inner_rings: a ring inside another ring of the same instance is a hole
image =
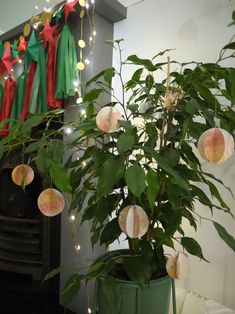
[[[76,42],[67,24],[57,40],[58,60],[55,98],[74,96],[78,81]]]

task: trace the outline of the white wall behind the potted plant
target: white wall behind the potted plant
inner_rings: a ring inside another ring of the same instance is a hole
[[[114,27],[114,39],[124,38],[124,59],[131,54],[151,58],[166,48],[175,48],[171,58],[178,61],[215,62],[218,53],[235,28],[228,28],[234,0],[146,0],[128,9],[128,18]],[[232,63],[231,63],[232,64]],[[114,66],[118,65],[114,51]],[[233,63],[234,66],[234,63]],[[130,78],[133,68],[124,69],[124,78]],[[165,74],[164,74],[165,75]],[[118,84],[114,87],[118,92]],[[208,165],[206,170],[218,175],[235,194],[235,156],[222,165]],[[235,200],[221,190],[235,214]],[[198,212],[207,216],[209,210],[197,206]],[[226,226],[235,236],[235,222],[224,213],[214,220]],[[213,226],[203,222],[197,235],[185,224],[188,236],[200,242],[210,264],[191,257],[191,275],[186,287],[235,309],[235,253],[219,239]],[[124,243],[121,242],[121,246]],[[118,247],[115,243],[112,249]]]

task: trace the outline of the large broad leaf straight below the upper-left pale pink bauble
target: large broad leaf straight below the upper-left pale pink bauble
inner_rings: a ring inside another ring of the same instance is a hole
[[[113,190],[113,186],[124,174],[124,161],[120,156],[111,155],[105,160],[101,169],[97,185],[97,195],[102,197]]]

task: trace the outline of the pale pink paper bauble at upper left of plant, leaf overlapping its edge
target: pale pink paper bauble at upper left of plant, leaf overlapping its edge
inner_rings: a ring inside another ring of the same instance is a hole
[[[97,127],[105,133],[113,133],[119,129],[118,121],[122,120],[121,113],[114,107],[103,107],[96,116]]]

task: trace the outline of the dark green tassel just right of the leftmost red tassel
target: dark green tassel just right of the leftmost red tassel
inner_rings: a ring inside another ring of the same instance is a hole
[[[17,121],[20,120],[19,115],[21,114],[23,109],[27,78],[28,74],[26,72],[23,72],[16,80],[15,97],[11,109],[11,116],[9,122],[10,129],[17,124]]]

